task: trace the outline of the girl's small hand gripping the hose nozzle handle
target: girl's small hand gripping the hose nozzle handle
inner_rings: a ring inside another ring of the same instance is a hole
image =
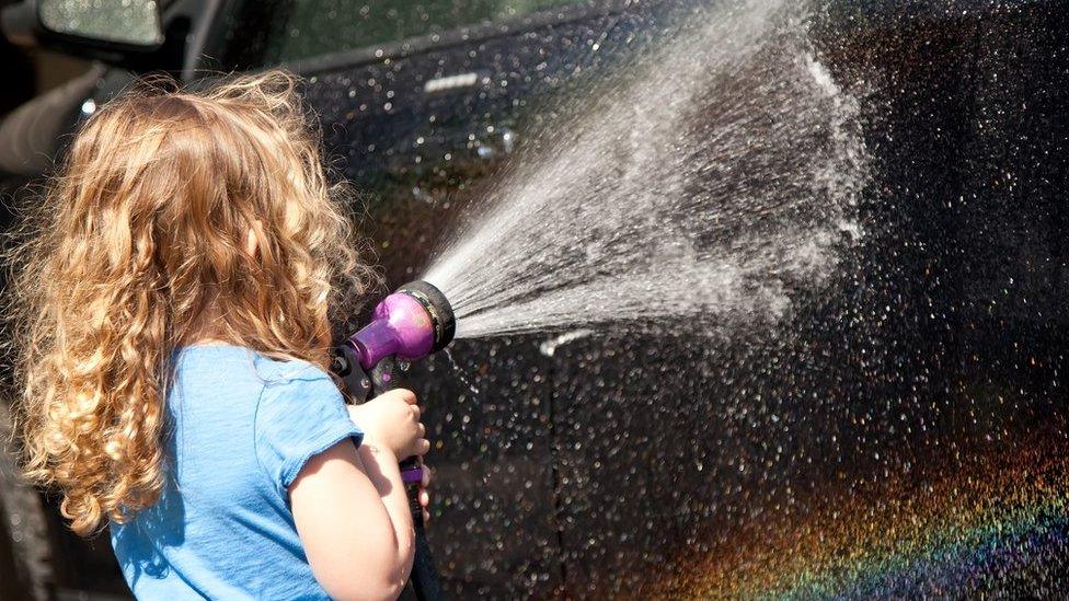
[[[350,406],[348,412],[349,419],[364,431],[366,442],[389,449],[398,460],[430,450],[412,391],[392,390],[363,405]]]

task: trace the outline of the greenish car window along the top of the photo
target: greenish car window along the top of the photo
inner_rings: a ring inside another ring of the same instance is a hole
[[[576,0],[292,0],[274,12],[265,62],[288,62],[497,22]]]

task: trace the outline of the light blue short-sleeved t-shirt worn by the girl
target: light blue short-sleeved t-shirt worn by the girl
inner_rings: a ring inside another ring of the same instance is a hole
[[[112,546],[140,599],[327,599],[297,536],[288,487],[363,435],[321,369],[248,348],[193,346],[168,393],[169,481]]]

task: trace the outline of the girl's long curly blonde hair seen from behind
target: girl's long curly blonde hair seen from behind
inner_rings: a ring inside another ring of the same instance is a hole
[[[363,292],[344,187],[296,86],[280,71],[198,93],[140,85],[84,124],[22,228],[24,467],[80,534],[158,500],[175,348],[325,367],[331,311]]]

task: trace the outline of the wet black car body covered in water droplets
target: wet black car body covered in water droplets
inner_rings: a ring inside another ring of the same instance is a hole
[[[188,27],[212,58],[186,60],[185,77],[283,66],[306,78],[332,165],[366,193],[383,290],[421,276],[556,99],[625,70],[671,23],[663,3],[544,3],[479,22],[447,2],[441,27],[409,26],[416,15],[338,34],[327,9],[343,3],[210,4]],[[777,326],[790,335],[613,330],[550,351],[552,335],[521,335],[458,340],[451,358],[414,366],[438,441],[429,535],[447,588],[1064,596],[1062,9],[814,8],[818,56],[863,105],[873,173],[867,235]],[[373,42],[347,42],[359,36]],[[94,77],[60,129],[128,76]],[[107,541],[73,539],[45,505],[54,583],[124,591]]]

